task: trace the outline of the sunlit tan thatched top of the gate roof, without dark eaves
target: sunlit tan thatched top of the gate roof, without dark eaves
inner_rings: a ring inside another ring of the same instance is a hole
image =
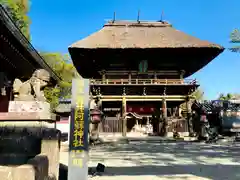
[[[70,48],[183,48],[215,47],[219,45],[202,41],[172,27],[167,22],[108,22],[90,36],[72,44]]]

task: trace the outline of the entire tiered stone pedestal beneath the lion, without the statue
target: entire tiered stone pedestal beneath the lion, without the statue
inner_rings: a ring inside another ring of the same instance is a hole
[[[26,111],[31,104],[43,107],[40,102],[27,102],[22,111],[21,103],[26,102],[10,102],[9,112],[0,113],[1,180],[57,180],[61,132],[54,128],[56,118],[48,108]]]

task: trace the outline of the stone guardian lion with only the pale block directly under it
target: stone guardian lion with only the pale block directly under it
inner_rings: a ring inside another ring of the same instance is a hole
[[[8,112],[16,114],[31,113],[39,119],[51,119],[50,104],[46,102],[44,88],[50,81],[50,74],[45,69],[37,69],[32,77],[22,82],[13,83],[14,101],[9,102]]]

